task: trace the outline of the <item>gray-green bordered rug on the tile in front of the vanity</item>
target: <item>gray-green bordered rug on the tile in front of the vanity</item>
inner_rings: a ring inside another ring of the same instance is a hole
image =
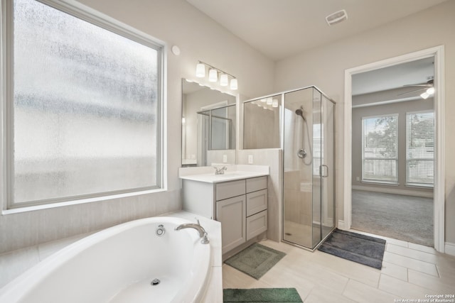
[[[233,255],[225,263],[259,280],[286,253],[255,243]]]

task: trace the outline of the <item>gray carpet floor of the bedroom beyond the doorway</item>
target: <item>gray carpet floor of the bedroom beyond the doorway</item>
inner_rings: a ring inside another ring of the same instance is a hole
[[[433,199],[353,190],[351,228],[434,246]]]

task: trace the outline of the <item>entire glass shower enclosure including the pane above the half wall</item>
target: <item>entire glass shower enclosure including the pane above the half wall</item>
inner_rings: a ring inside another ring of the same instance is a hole
[[[314,250],[335,228],[335,102],[311,86],[244,103],[243,148],[282,148],[282,240]]]

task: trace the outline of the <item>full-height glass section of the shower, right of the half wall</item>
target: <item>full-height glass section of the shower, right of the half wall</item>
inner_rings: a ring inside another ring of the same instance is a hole
[[[314,87],[284,94],[283,240],[309,249],[334,226],[333,109]]]

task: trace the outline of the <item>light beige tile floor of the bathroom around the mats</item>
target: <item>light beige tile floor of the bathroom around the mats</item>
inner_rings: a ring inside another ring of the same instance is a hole
[[[428,296],[455,294],[455,257],[427,246],[385,239],[382,270],[319,250],[311,253],[286,243],[262,241],[287,255],[259,280],[223,264],[223,288],[295,287],[305,303],[432,302]],[[439,302],[455,302],[455,297]]]

